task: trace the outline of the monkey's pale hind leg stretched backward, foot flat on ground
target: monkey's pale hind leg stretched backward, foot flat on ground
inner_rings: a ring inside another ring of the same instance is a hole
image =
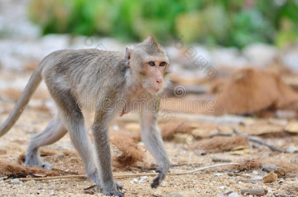
[[[45,127],[43,131],[36,134],[29,143],[26,153],[26,166],[39,166],[44,169],[50,170],[52,166],[43,162],[38,148],[40,146],[49,145],[60,140],[67,133],[67,129],[64,127],[63,120],[57,114],[51,122]]]

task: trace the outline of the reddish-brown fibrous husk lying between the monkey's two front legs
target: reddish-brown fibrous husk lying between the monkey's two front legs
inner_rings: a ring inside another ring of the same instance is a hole
[[[113,143],[122,152],[120,156],[116,156],[113,161],[116,163],[116,167],[129,167],[135,164],[137,161],[144,160],[144,151],[142,151],[138,144],[136,144],[131,138],[121,135],[113,135],[110,138]]]

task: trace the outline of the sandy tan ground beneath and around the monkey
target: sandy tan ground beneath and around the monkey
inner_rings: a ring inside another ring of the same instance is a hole
[[[16,82],[16,76],[22,76],[23,81]],[[1,72],[2,82],[7,84],[22,84],[28,79],[29,74],[12,74],[11,72]],[[24,84],[23,84],[24,83]],[[14,87],[14,86],[12,86]],[[0,161],[10,164],[17,164],[19,157],[25,152],[30,138],[41,131],[53,117],[53,107],[51,102],[47,102],[47,93],[44,92],[44,86],[38,90],[35,102],[31,102],[29,107],[25,109],[17,124],[0,139]],[[8,116],[14,107],[12,94],[18,96],[18,90],[12,93],[1,89],[0,94],[0,123]],[[7,96],[8,95],[8,96]],[[190,117],[192,114],[185,114],[183,117]],[[169,175],[166,177],[162,186],[157,189],[151,189],[150,183],[152,176],[133,177],[117,179],[123,184],[126,197],[166,197],[170,192],[174,191],[193,191],[198,197],[216,197],[220,194],[238,193],[241,189],[247,188],[263,188],[268,190],[266,197],[288,197],[298,195],[298,153],[278,153],[270,150],[268,147],[257,143],[248,143],[248,145],[236,145],[230,150],[223,151],[221,146],[216,151],[198,153],[192,148],[192,144],[202,142],[206,139],[212,139],[209,135],[215,132],[216,127],[221,127],[222,132],[232,132],[233,127],[241,128],[243,133],[259,136],[264,142],[275,145],[283,150],[298,147],[298,128],[295,127],[298,121],[292,120],[284,123],[277,119],[252,119],[243,117],[245,123],[229,123],[218,124],[214,121],[196,121],[192,118],[181,119],[181,113],[172,112],[173,119],[169,123],[160,124],[161,127],[167,127],[167,124],[195,124],[196,129],[203,130],[203,134],[197,136],[196,140],[191,143],[185,143],[184,137],[186,133],[176,133],[165,141],[165,147],[169,154],[171,164],[180,164],[172,166],[170,172],[184,172],[194,170],[199,167],[217,164],[213,162],[214,158],[230,159],[231,162],[243,162],[247,160],[266,160],[267,163],[274,163],[286,169],[286,176],[278,178],[271,183],[263,183],[262,177],[267,172],[262,171],[259,167],[252,169],[239,170],[236,166],[224,166],[199,171],[186,175]],[[86,122],[90,125],[92,118],[87,117]],[[180,122],[179,122],[180,121]],[[287,130],[287,127],[293,125],[294,128]],[[129,133],[138,132],[137,121],[134,114],[127,114],[123,119],[118,118],[110,125],[110,132],[113,133]],[[296,129],[296,130],[295,130]],[[195,136],[192,132],[192,136]],[[223,142],[224,138],[221,137]],[[182,140],[181,140],[182,139]],[[149,168],[155,166],[152,156],[146,151],[144,143],[139,142],[138,147],[143,151],[144,161],[138,161],[133,166],[125,168],[114,167],[114,175],[126,175],[135,173],[153,173]],[[70,142],[69,135],[66,134],[59,142],[45,146],[43,150],[50,151],[50,154],[43,156],[43,161],[52,164],[53,169],[59,171],[63,175],[84,175],[84,167],[79,159],[74,147]],[[119,154],[117,147],[112,144],[111,152],[113,157]],[[21,165],[23,163],[21,162]],[[240,166],[241,167],[241,166]],[[242,166],[243,167],[243,166]],[[1,175],[1,170],[0,170]],[[41,175],[29,175],[29,177],[39,177]],[[1,176],[0,176],[1,177]],[[4,176],[2,176],[4,177]],[[17,178],[23,178],[19,176]],[[14,176],[5,179],[13,179]],[[73,179],[55,179],[55,180],[29,180],[17,183],[4,182],[0,178],[0,197],[48,197],[48,196],[102,196],[100,189],[95,187],[88,190],[84,188],[91,186],[93,183],[84,178]],[[240,195],[241,196],[241,195]]]

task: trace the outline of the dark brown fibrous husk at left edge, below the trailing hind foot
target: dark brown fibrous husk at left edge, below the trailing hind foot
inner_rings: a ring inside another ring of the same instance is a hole
[[[25,167],[18,163],[0,161],[0,177],[20,178],[33,174],[43,174],[45,176],[61,175],[57,171],[45,170],[36,166]]]

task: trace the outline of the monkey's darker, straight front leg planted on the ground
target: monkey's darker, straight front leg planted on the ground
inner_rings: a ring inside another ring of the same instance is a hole
[[[123,197],[124,193],[118,191],[118,189],[122,189],[123,187],[120,183],[114,181],[112,174],[111,152],[108,140],[108,122],[111,116],[112,114],[108,112],[97,112],[95,114],[92,132],[99,160],[99,171],[104,194]]]

